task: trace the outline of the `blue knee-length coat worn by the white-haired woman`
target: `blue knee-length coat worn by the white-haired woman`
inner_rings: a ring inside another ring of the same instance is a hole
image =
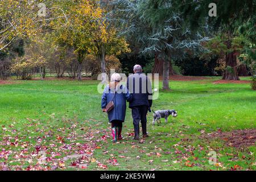
[[[113,100],[114,97],[114,100]],[[114,108],[108,113],[109,122],[113,120],[125,121],[125,112],[126,112],[126,101],[131,101],[133,97],[129,93],[129,90],[126,86],[118,86],[116,93],[110,90],[109,85],[106,86],[101,98],[101,108],[105,109],[106,105],[113,100]]]

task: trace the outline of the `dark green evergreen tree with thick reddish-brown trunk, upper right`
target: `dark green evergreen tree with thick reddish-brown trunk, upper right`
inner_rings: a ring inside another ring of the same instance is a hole
[[[166,2],[165,0],[160,0]],[[217,16],[209,16],[209,5],[215,3]],[[225,52],[226,69],[223,75],[224,80],[239,80],[237,72],[237,50],[232,50],[232,45],[236,44],[237,28],[250,20],[255,24],[256,1],[255,0],[204,0],[204,1],[175,1],[175,9],[182,12],[185,19],[185,26],[189,26],[193,31],[201,30],[207,23],[212,30],[220,35],[225,35],[225,44],[228,52]],[[255,27],[254,27],[255,28]]]

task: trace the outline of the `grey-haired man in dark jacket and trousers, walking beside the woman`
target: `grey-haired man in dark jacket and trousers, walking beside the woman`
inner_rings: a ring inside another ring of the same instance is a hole
[[[147,135],[147,111],[150,111],[152,100],[148,96],[152,95],[150,79],[142,73],[141,65],[134,65],[134,74],[127,78],[127,88],[133,95],[133,101],[129,103],[131,114],[133,115],[134,139],[139,139],[139,122],[142,125],[143,138]]]

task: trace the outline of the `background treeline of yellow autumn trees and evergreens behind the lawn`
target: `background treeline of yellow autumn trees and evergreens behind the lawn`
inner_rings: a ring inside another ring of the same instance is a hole
[[[43,2],[45,6],[38,6]],[[215,3],[217,16],[209,16]],[[1,1],[0,77],[97,77],[110,68],[255,79],[255,0]]]

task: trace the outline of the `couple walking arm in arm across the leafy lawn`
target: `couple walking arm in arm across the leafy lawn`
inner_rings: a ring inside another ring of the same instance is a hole
[[[119,84],[121,76],[114,73],[108,86],[104,89],[101,100],[102,111],[106,111],[106,105],[114,102],[114,107],[108,112],[109,122],[112,125],[113,142],[122,139],[122,123],[125,121],[126,101],[129,102],[131,114],[133,116],[134,139],[139,139],[139,122],[142,125],[143,138],[147,135],[147,111],[151,111],[152,95],[151,82],[142,73],[141,65],[134,66],[134,74],[127,78],[127,87]]]

